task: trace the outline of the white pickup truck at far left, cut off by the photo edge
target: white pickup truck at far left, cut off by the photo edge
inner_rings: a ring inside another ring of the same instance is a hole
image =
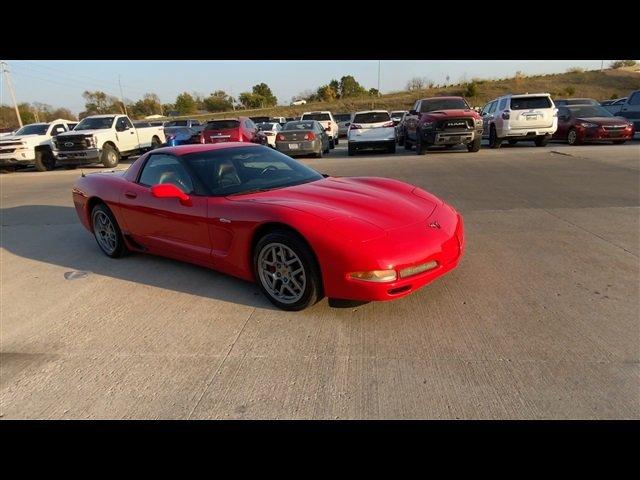
[[[0,166],[51,170],[54,165],[51,138],[72,130],[78,122],[59,118],[49,123],[31,123],[13,134],[0,137]]]

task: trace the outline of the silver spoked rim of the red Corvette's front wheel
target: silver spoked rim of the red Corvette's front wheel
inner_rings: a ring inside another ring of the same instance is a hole
[[[272,298],[291,304],[302,298],[307,276],[300,257],[282,243],[269,243],[258,255],[260,283]]]

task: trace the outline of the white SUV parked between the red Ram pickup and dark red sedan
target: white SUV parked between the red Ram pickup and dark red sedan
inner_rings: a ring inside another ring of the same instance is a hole
[[[558,109],[548,93],[504,95],[482,108],[482,122],[491,148],[500,148],[503,140],[511,145],[532,140],[544,147],[558,128]]]

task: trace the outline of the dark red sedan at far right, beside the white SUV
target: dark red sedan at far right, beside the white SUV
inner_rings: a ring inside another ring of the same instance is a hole
[[[633,123],[614,117],[601,106],[569,105],[558,107],[558,129],[553,139],[569,145],[603,141],[621,144],[631,140],[633,134]]]

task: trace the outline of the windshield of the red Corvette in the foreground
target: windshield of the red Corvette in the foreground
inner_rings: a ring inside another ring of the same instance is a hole
[[[315,170],[268,147],[234,147],[184,155],[210,195],[237,195],[322,179]]]

